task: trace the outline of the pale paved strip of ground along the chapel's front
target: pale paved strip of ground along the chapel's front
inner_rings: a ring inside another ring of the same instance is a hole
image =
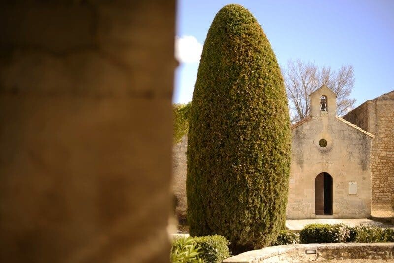
[[[357,225],[376,226],[381,228],[392,227],[393,225],[384,224],[381,222],[373,221],[366,218],[332,218],[332,219],[301,219],[301,220],[286,220],[286,228],[292,232],[301,231],[305,225],[308,224],[345,224],[349,227]]]

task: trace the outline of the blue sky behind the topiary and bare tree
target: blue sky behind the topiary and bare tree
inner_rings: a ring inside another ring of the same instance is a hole
[[[394,90],[394,0],[178,0],[174,103],[191,101],[209,26],[229,3],[253,13],[281,66],[352,65],[355,106]]]

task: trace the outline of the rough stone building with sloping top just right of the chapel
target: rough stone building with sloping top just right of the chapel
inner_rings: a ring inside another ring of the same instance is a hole
[[[394,91],[368,100],[344,116],[375,135],[372,141],[372,202],[394,198]]]

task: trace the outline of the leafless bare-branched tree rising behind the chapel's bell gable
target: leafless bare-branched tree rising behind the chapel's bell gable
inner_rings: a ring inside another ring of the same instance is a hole
[[[354,86],[353,66],[342,66],[338,71],[330,66],[319,68],[315,64],[297,59],[289,60],[287,68],[282,68],[287,97],[289,99],[291,121],[307,117],[310,109],[309,94],[326,85],[336,93],[337,115],[342,116],[353,108],[355,99],[350,98]]]

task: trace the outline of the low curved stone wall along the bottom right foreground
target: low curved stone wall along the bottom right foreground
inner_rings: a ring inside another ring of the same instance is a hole
[[[224,263],[305,262],[343,259],[394,259],[394,243],[296,244],[241,253]]]

